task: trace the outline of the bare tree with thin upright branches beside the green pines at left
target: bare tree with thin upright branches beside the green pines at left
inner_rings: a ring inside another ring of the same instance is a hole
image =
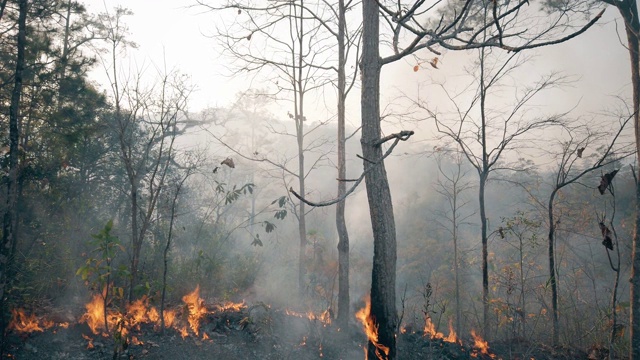
[[[133,301],[138,285],[142,245],[151,226],[158,197],[169,169],[174,164],[174,142],[184,131],[191,93],[188,79],[178,72],[156,68],[158,77],[151,87],[143,85],[143,72],[124,79],[118,56],[127,46],[128,29],[124,16],[131,12],[116,8],[115,14],[102,16],[104,38],[110,61],[103,59],[114,101],[112,130],[119,146],[119,157],[126,172],[131,226],[130,285],[128,300]]]

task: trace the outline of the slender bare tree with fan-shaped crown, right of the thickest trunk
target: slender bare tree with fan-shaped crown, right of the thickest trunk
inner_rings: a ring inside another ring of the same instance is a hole
[[[479,60],[475,95],[468,104],[460,104],[458,94],[451,94],[445,86],[441,86],[455,108],[449,120],[447,115],[429,110],[424,102],[418,106],[427,110],[441,138],[452,141],[460,147],[469,163],[476,169],[479,178],[478,204],[480,209],[481,243],[482,243],[482,302],[484,336],[489,334],[490,294],[488,272],[488,238],[486,185],[492,172],[496,170],[515,169],[514,164],[502,161],[505,153],[522,151],[521,141],[525,136],[538,129],[556,126],[561,123],[563,114],[538,114],[531,117],[530,102],[541,92],[553,89],[566,82],[566,78],[557,74],[549,74],[537,83],[517,88],[517,95],[509,110],[500,111],[504,94],[498,88],[504,85],[506,76],[516,70],[527,59],[517,54],[509,54],[506,58],[494,58],[491,49],[478,50]],[[500,55],[500,54],[498,54]],[[477,115],[476,115],[477,114]],[[520,144],[520,149],[518,149]]]

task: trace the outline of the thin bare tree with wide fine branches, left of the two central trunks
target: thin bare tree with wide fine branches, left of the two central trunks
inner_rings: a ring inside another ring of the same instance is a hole
[[[275,165],[286,176],[293,176],[297,180],[299,191],[304,194],[305,179],[318,163],[316,160],[309,167],[305,160],[310,150],[318,146],[317,143],[307,144],[308,136],[317,128],[309,125],[310,122],[307,121],[307,97],[329,84],[330,78],[327,74],[332,68],[328,64],[331,56],[328,49],[331,48],[329,44],[332,38],[338,36],[337,33],[325,31],[331,27],[327,23],[318,22],[318,19],[323,18],[322,12],[332,9],[322,2],[305,0],[261,5],[235,1],[220,6],[210,5],[206,1],[198,3],[212,11],[237,11],[233,25],[219,26],[216,34],[224,54],[235,62],[231,69],[232,74],[239,75],[247,71],[266,74],[267,80],[275,88],[275,91],[268,95],[293,105],[293,111],[287,111],[286,114],[294,124],[293,134],[287,131],[281,134],[293,135],[297,142],[296,169],[287,168],[264,155],[239,155],[249,160],[266,161]],[[264,44],[267,44],[268,53],[264,51]],[[320,125],[324,123],[326,121],[319,122]],[[302,298],[306,291],[306,215],[309,210],[303,201],[299,201],[293,210],[298,220],[298,290]]]

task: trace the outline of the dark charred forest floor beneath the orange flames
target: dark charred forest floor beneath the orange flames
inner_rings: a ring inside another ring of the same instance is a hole
[[[10,332],[5,359],[364,359],[366,337],[359,324],[347,331],[320,320],[289,315],[267,306],[208,313],[199,334],[182,338],[178,331],[160,334],[153,325],[131,329],[140,342],[115,347],[113,338],[96,336],[84,324],[53,326],[42,332]],[[209,339],[203,339],[203,337]],[[89,342],[93,345],[88,348]],[[604,359],[606,354],[553,349],[524,340],[490,344],[492,356],[470,347],[428,339],[420,333],[398,336],[398,359]],[[119,351],[114,356],[114,349]],[[124,348],[124,349],[123,349]]]

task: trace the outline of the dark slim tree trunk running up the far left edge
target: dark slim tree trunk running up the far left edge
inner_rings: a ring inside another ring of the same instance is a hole
[[[18,144],[20,139],[18,122],[20,118],[20,98],[22,97],[22,75],[25,68],[25,48],[27,43],[27,0],[20,0],[18,15],[18,38],[16,46],[16,70],[9,108],[9,182],[7,203],[2,224],[2,244],[0,244],[0,331],[2,331],[2,351],[4,352],[5,300],[11,286],[13,256],[15,254],[18,225]]]

